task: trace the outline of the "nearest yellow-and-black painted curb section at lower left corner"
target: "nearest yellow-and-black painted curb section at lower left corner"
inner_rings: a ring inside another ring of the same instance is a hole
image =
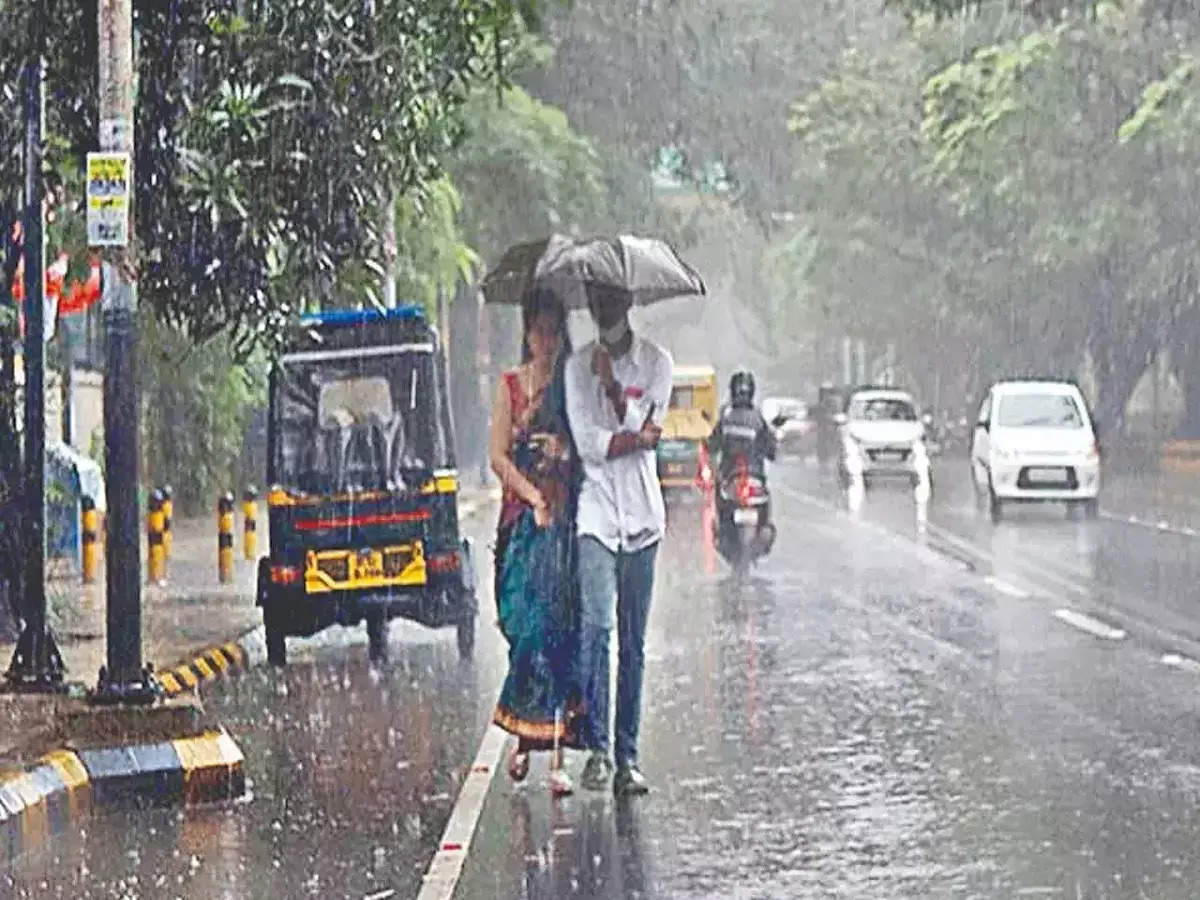
[[[0,862],[108,809],[192,806],[246,792],[245,757],[223,730],[151,744],[53,750],[0,773]]]

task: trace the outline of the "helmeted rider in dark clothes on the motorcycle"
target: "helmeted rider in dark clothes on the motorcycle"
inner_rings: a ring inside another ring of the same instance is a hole
[[[708,438],[708,451],[718,461],[718,484],[724,486],[738,473],[738,466],[744,461],[748,475],[767,485],[767,460],[775,458],[775,432],[754,403],[755,379],[748,370],[739,368],[730,378],[730,398],[721,407],[716,427]],[[721,544],[730,536],[733,526],[734,502],[726,499],[724,491],[716,492],[718,539]],[[764,508],[763,524],[770,522],[769,503]],[[769,539],[763,552],[774,541],[774,529],[769,529]]]

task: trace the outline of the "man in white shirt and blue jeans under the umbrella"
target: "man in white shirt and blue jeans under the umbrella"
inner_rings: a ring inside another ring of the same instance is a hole
[[[592,750],[581,779],[602,790],[608,756],[608,635],[617,624],[613,791],[649,791],[637,766],[646,622],[654,562],[666,526],[654,448],[671,400],[671,356],[629,325],[630,301],[589,289],[600,340],[566,362],[566,414],[583,462],[580,538],[582,737]]]

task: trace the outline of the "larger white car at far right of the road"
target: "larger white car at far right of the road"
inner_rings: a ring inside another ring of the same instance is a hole
[[[971,446],[976,497],[994,520],[1008,502],[1056,500],[1099,514],[1100,448],[1079,388],[1001,382],[979,407]]]

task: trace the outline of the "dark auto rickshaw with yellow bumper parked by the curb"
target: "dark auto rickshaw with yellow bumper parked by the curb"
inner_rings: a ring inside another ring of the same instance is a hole
[[[365,620],[455,626],[475,641],[472,548],[458,532],[454,428],[437,330],[420,307],[305,317],[272,366],[270,556],[259,562],[268,659],[289,636]]]

